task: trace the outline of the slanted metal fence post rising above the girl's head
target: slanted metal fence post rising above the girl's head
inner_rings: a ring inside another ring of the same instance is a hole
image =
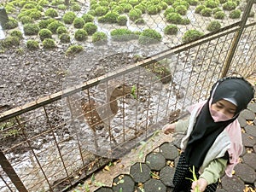
[[[232,41],[232,44],[230,47],[230,52],[228,53],[228,56],[227,56],[228,58],[224,63],[224,70],[221,74],[222,78],[224,78],[227,75],[227,73],[230,69],[230,64],[235,55],[237,44],[239,43],[239,41],[241,39],[241,34],[242,34],[244,27],[247,23],[248,15],[250,14],[252,7],[253,7],[253,0],[248,0],[245,12],[241,16],[240,28],[236,31],[235,37],[233,38],[233,41]]]

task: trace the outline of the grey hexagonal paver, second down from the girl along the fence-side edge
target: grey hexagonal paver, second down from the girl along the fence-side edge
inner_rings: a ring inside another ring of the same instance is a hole
[[[146,156],[146,164],[151,170],[160,171],[166,166],[166,158],[160,153],[150,153]]]

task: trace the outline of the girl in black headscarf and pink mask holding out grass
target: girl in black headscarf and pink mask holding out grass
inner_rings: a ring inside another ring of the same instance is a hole
[[[214,192],[218,178],[225,172],[232,177],[242,152],[241,127],[237,117],[253,99],[253,86],[242,78],[219,79],[212,86],[210,97],[189,108],[188,120],[165,125],[165,134],[187,131],[182,139],[179,161],[174,174],[173,192]],[[193,178],[192,167],[199,179]]]

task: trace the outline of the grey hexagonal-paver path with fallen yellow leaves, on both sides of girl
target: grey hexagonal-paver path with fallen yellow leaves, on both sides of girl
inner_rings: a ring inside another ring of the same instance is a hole
[[[256,186],[256,103],[250,103],[239,116],[244,144],[240,163],[233,177],[224,176],[217,192],[255,192]],[[179,158],[178,147],[182,136],[172,142],[161,143],[150,151],[144,161],[135,162],[113,178],[112,184],[96,192],[172,192],[172,177]],[[109,179],[110,177],[108,177]]]

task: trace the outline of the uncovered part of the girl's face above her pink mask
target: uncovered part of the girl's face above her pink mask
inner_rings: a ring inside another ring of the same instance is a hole
[[[223,113],[228,118],[233,118],[236,114],[236,105],[224,99],[219,100],[211,105],[211,108],[219,113]]]

